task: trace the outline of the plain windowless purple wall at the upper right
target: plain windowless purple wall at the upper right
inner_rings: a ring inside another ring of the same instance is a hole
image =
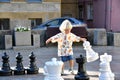
[[[119,3],[119,0],[94,0],[94,16],[96,16],[94,25],[96,27],[104,27],[107,31],[120,32]],[[101,8],[97,6],[101,6]],[[97,16],[99,17],[97,18]]]

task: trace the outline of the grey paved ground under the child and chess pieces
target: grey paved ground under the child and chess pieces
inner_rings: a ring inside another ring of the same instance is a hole
[[[80,54],[85,55],[85,51],[82,46],[74,46],[74,57],[79,57]],[[112,72],[115,74],[115,80],[120,80],[120,47],[113,46],[93,46],[93,49],[102,55],[108,53],[112,55],[113,60],[111,62]],[[16,65],[15,56],[18,52],[23,56],[23,65],[28,67],[29,65],[29,55],[34,52],[36,55],[36,64],[39,67],[39,74],[35,75],[19,75],[19,76],[0,76],[0,80],[44,80],[43,67],[46,61],[51,60],[51,58],[57,57],[57,47],[42,47],[42,48],[32,48],[32,49],[15,49],[15,50],[0,50],[0,57],[6,52],[10,57],[10,66],[14,67]],[[99,63],[100,61],[94,61],[86,63],[86,71],[90,76],[90,80],[99,80]],[[0,67],[2,66],[2,58],[0,58]],[[66,76],[62,76],[65,80],[74,80],[74,75],[68,73],[68,63],[65,65]],[[77,73],[78,64],[75,62],[74,70]]]

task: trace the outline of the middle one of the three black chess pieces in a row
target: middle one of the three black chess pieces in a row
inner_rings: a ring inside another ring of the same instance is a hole
[[[14,75],[24,75],[25,74],[25,69],[23,67],[22,64],[22,55],[20,53],[18,53],[18,55],[16,56],[16,68],[14,69]]]

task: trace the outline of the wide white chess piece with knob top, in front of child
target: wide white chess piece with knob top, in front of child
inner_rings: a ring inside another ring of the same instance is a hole
[[[56,58],[52,58],[52,61],[48,61],[44,66],[44,80],[64,80],[61,77],[62,61],[57,61]]]

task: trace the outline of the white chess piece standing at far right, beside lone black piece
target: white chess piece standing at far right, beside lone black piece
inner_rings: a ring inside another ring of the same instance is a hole
[[[99,80],[114,80],[114,73],[112,73],[110,68],[110,62],[112,61],[112,56],[104,53],[100,56],[100,75]]]

